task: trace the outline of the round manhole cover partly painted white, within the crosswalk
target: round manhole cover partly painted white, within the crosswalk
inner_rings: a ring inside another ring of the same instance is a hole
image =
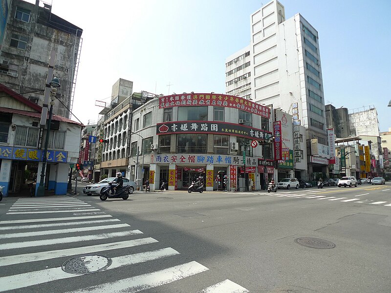
[[[62,266],[64,272],[87,274],[99,272],[111,265],[111,258],[100,254],[84,254],[68,259]]]

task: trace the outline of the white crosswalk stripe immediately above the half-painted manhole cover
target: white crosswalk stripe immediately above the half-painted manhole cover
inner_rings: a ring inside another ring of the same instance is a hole
[[[151,237],[126,240],[120,242],[111,242],[105,244],[91,245],[91,246],[83,246],[77,248],[69,248],[63,250],[54,250],[54,251],[42,251],[42,252],[34,252],[34,253],[25,253],[18,255],[9,255],[0,257],[0,266],[9,266],[15,264],[22,264],[33,261],[41,261],[46,259],[52,259],[57,257],[65,257],[71,255],[78,254],[87,254],[98,251],[109,251],[115,249],[123,249],[129,248],[139,245],[151,244],[159,242],[156,239]]]

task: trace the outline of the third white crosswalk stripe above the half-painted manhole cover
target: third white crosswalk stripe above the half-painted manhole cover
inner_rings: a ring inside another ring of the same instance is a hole
[[[114,225],[78,227],[78,228],[59,229],[59,230],[43,230],[43,231],[41,230],[41,231],[33,231],[33,232],[8,233],[8,234],[0,234],[0,239],[20,238],[20,237],[24,238],[24,237],[34,237],[34,236],[51,235],[51,234],[77,233],[77,232],[106,230],[106,229],[118,229],[118,228],[125,228],[125,227],[130,227],[130,225],[114,224]]]

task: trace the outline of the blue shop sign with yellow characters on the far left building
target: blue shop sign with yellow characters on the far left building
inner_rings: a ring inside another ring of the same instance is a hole
[[[0,146],[0,159],[8,160],[25,160],[25,161],[43,161],[42,149]],[[68,152],[63,150],[47,150],[46,162],[50,163],[67,163]]]

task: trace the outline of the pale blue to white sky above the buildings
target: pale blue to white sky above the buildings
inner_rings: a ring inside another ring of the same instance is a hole
[[[267,0],[53,0],[52,13],[83,29],[73,114],[97,122],[112,85],[133,92],[225,93],[225,59],[250,43],[250,15]],[[374,105],[391,127],[390,0],[281,0],[319,34],[325,104]],[[356,110],[357,111],[357,110]],[[72,117],[75,120],[74,117]]]

